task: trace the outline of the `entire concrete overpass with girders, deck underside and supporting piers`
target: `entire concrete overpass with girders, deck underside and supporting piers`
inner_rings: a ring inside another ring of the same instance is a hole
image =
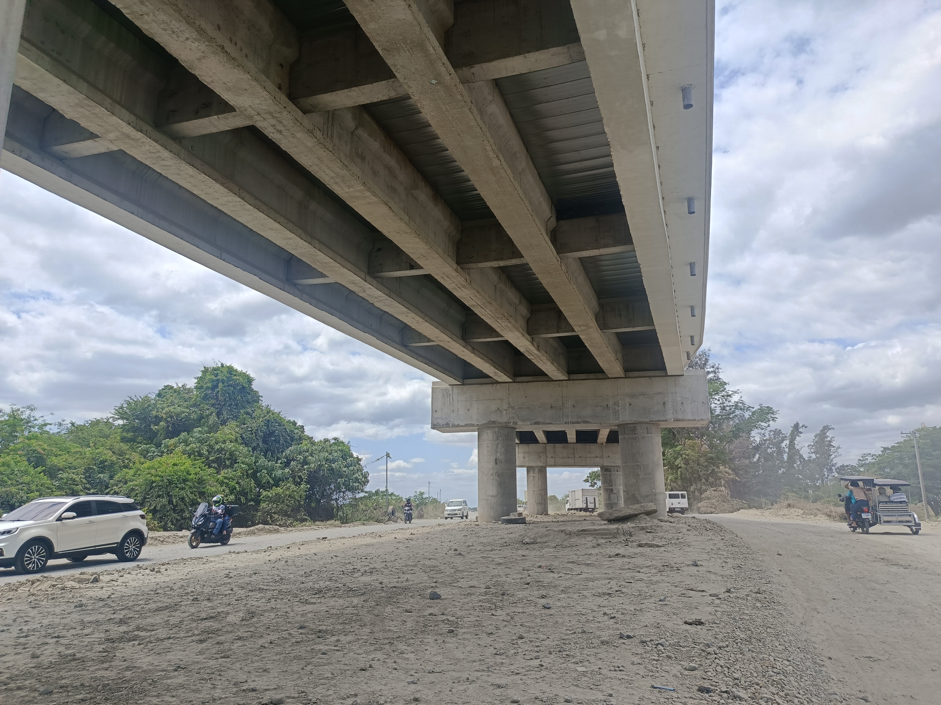
[[[2,166],[440,380],[482,521],[560,431],[662,502],[659,429],[709,417],[713,13],[10,0]]]

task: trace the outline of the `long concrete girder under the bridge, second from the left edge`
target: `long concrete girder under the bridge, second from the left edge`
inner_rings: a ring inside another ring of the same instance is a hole
[[[266,149],[257,137],[230,131],[192,138],[185,144],[171,140],[93,85],[90,78],[95,75],[94,69],[86,75],[77,72],[95,55],[81,53],[80,46],[75,47],[74,55],[68,54],[65,50],[72,46],[69,41],[59,42],[57,58],[46,55],[36,37],[45,25],[41,16],[33,14],[40,8],[39,3],[31,6],[26,17],[17,62],[18,86],[474,367],[495,379],[513,379],[511,352],[492,345],[465,343],[460,337],[463,307],[437,286],[415,288],[401,281],[384,284],[369,277],[366,257],[375,234],[275,151]],[[85,34],[81,25],[73,26],[78,35]],[[129,103],[147,107],[147,97],[137,96],[129,86],[152,89],[158,84],[161,67],[148,56],[146,47],[131,44],[136,38],[130,33],[122,37],[120,33],[125,30],[110,29],[125,41],[122,67],[134,74],[137,83],[120,76],[109,79],[120,87],[116,92]],[[142,63],[135,64],[128,45],[139,52]],[[68,66],[60,59],[68,61]],[[147,71],[148,64],[153,71]],[[453,372],[449,378],[455,379]]]

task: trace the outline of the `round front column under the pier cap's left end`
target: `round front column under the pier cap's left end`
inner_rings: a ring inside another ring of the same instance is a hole
[[[477,521],[499,522],[517,510],[517,430],[477,429]]]

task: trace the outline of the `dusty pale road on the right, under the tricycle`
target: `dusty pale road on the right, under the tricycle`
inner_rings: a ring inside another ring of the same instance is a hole
[[[836,690],[872,702],[937,702],[941,526],[873,529],[711,515],[781,577]],[[861,701],[860,701],[861,702]]]

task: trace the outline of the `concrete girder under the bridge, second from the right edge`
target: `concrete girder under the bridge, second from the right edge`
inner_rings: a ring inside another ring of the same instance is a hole
[[[623,377],[622,347],[595,321],[598,297],[578,259],[562,259],[555,212],[493,81],[462,85],[418,0],[347,0],[379,54],[470,177],[598,365]]]

